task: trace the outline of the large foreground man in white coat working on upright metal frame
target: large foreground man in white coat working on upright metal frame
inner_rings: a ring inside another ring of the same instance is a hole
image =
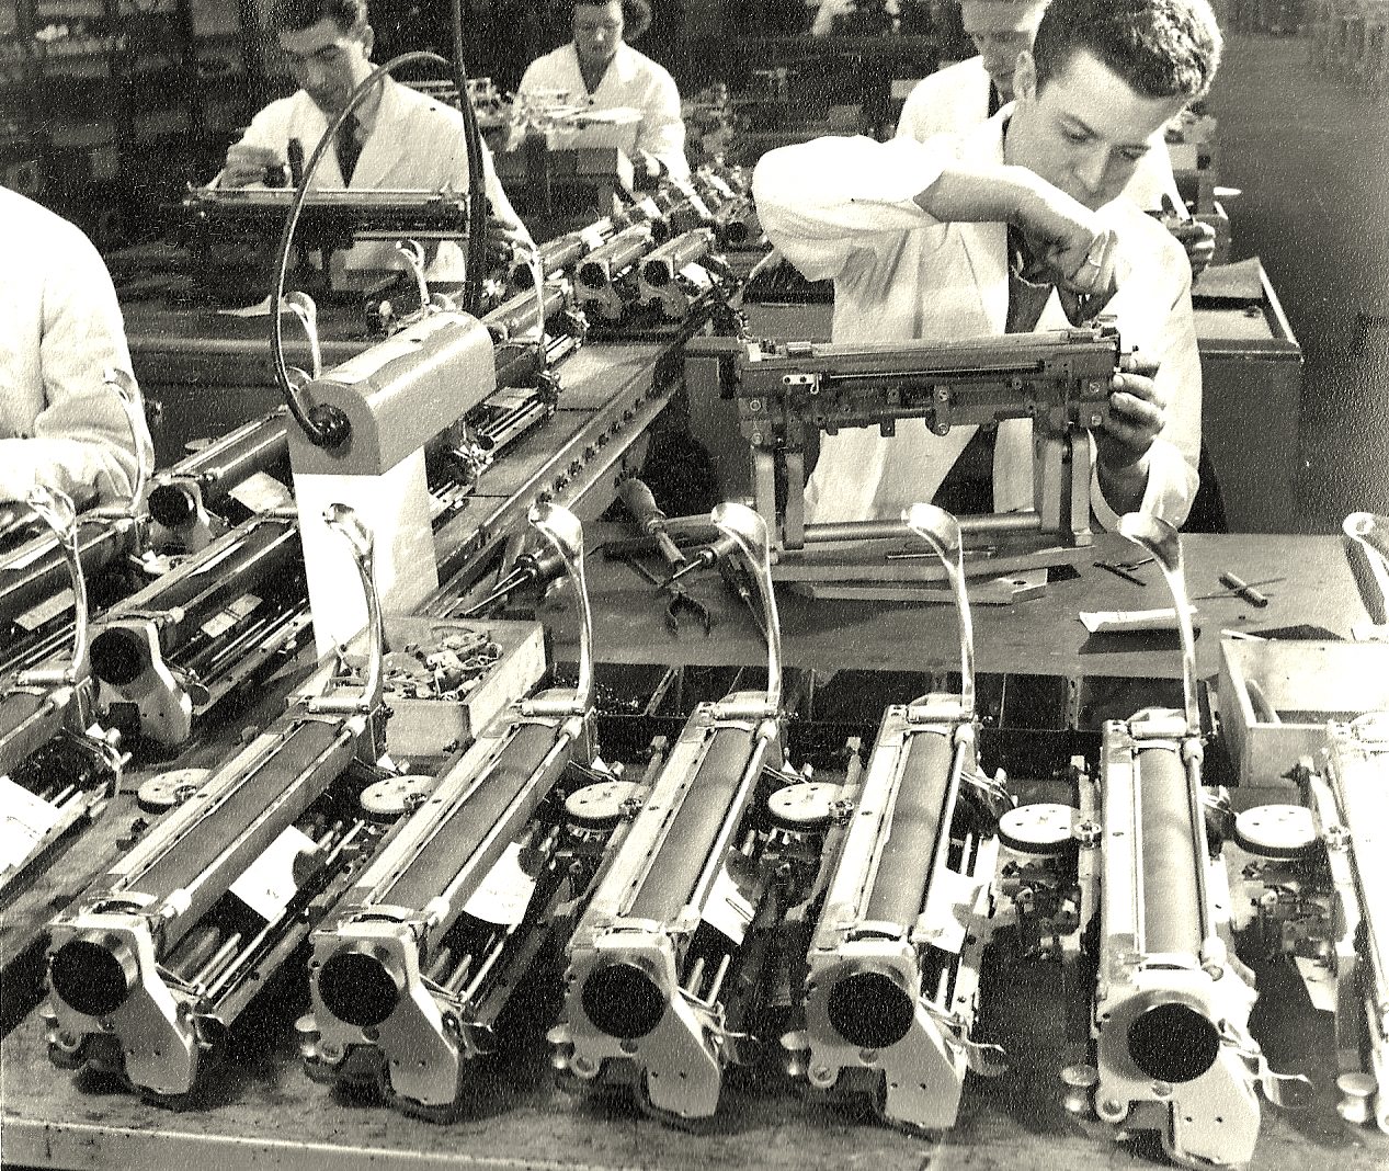
[[[954,342],[1113,315],[1146,365],[1115,375],[1113,418],[1092,432],[1104,526],[1136,508],[1179,525],[1196,493],[1190,267],[1157,221],[1115,196],[1168,118],[1207,92],[1220,49],[1207,0],[1053,0],[1018,56],[1014,104],[972,132],[824,138],[768,153],[753,176],[772,243],[807,278],[835,282],[835,342]],[[976,432],[971,458],[995,449],[983,460],[992,501],[978,511],[1029,508],[1028,420],[946,436],[911,421],[890,439],[825,436],[810,515],[896,520],[943,485],[940,503],[960,507],[946,500]]]

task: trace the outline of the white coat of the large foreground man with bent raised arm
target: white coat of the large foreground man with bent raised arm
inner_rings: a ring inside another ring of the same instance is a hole
[[[753,194],[767,235],[811,281],[835,282],[835,342],[925,339],[954,342],[1001,336],[1008,311],[1007,226],[945,224],[914,201],[951,161],[1003,163],[1008,108],[968,136],[929,143],[824,138],[763,156]],[[1106,313],[1117,318],[1125,347],[1161,363],[1157,382],[1168,403],[1163,435],[1145,456],[1143,510],[1179,525],[1196,495],[1200,454],[1201,374],[1186,253],[1157,221],[1126,200],[1100,213],[1118,231],[1121,288]],[[1068,322],[1053,293],[1038,331]],[[815,521],[897,520],[929,501],[975,428],[932,435],[924,422],[897,425],[892,439],[876,429],[826,435],[807,486]],[[1093,461],[1093,451],[1092,451]],[[999,426],[993,503],[1001,513],[1032,507],[1032,424]],[[1117,518],[1092,474],[1096,520]]]

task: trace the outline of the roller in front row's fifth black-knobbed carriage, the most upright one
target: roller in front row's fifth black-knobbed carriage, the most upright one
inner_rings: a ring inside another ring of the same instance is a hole
[[[1199,956],[1201,952],[1200,875],[1192,827],[1189,779],[1171,749],[1138,754],[1140,850],[1143,856],[1143,950]]]

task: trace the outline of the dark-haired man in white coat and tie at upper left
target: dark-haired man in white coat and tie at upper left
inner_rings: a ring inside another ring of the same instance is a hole
[[[297,140],[306,160],[313,156],[332,121],[347,106],[353,90],[372,71],[374,35],[364,0],[275,0],[268,26],[301,86],[290,97],[272,101],[253,119],[242,140],[226,151],[217,185],[263,185],[267,168],[289,163],[290,142]],[[529,243],[529,235],[511,208],[482,146],[489,204],[489,251],[510,256],[513,244]],[[463,115],[393,78],[381,83],[343,124],[338,142],[318,164],[315,189],[440,190],[468,189],[468,154]],[[347,258],[350,268],[399,268],[393,244],[357,244]],[[440,247],[431,275],[461,278],[463,253]]]

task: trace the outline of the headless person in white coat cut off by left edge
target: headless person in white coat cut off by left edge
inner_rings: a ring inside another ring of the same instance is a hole
[[[154,449],[143,411],[132,421],[106,382],[131,375],[106,264],[72,224],[4,188],[0,258],[0,501],[39,483],[78,507],[128,499]]]

